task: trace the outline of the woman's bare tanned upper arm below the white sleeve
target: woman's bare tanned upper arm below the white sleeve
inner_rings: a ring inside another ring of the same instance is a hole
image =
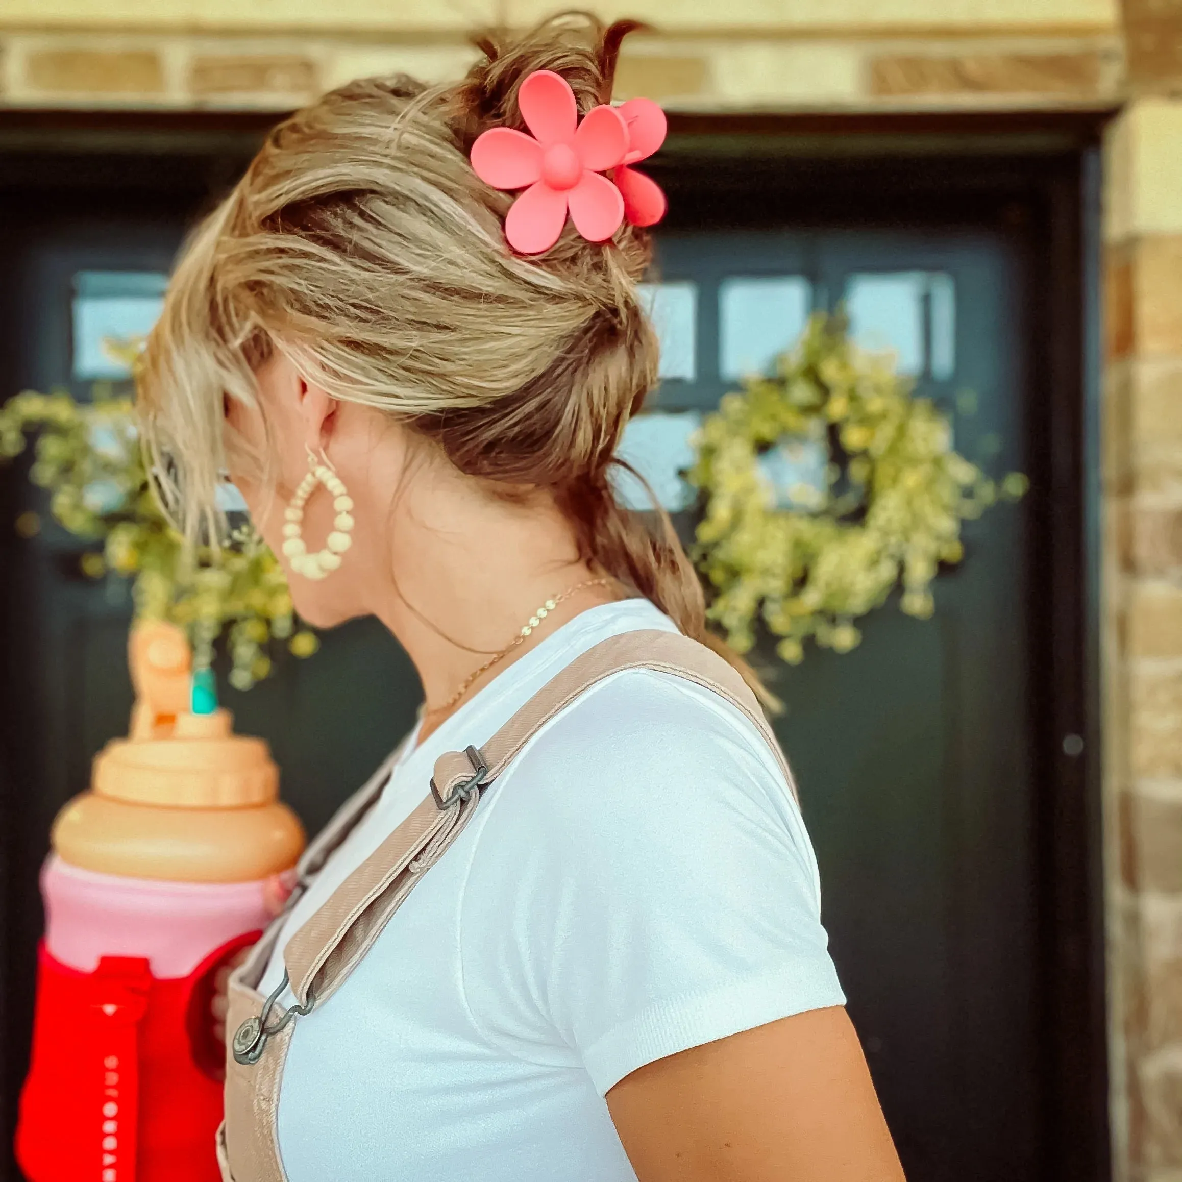
[[[608,1109],[639,1182],[903,1182],[839,1006],[647,1064]]]

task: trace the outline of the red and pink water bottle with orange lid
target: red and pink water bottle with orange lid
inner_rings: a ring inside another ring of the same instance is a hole
[[[304,844],[267,745],[190,696],[184,635],[135,629],[131,734],[53,825],[17,1156],[30,1182],[216,1182],[214,973]]]

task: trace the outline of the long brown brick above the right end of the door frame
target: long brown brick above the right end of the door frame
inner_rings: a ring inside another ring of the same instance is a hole
[[[1100,91],[1099,53],[973,53],[882,57],[870,63],[870,91],[882,98],[918,95],[1064,95]]]

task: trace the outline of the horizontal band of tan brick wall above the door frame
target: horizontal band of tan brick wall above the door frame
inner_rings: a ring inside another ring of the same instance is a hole
[[[1149,2],[1149,0],[1147,0]],[[363,73],[455,77],[553,0],[5,0],[0,105],[284,110]],[[619,95],[690,110],[1111,105],[1117,0],[630,0]],[[617,11],[618,9],[618,11]]]

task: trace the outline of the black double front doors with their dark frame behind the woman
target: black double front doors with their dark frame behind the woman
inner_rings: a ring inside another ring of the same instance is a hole
[[[691,151],[663,165],[674,216],[658,236],[652,298],[669,344],[654,410],[667,418],[641,421],[628,446],[677,508],[686,416],[788,344],[810,309],[844,303],[862,338],[900,351],[954,416],[962,452],[1030,475],[1022,502],[969,525],[966,561],[940,583],[933,621],[888,606],[852,654],[810,652],[800,668],[779,668],[788,708],[778,729],[818,850],[833,954],[908,1176],[1098,1180],[1092,751],[1063,747],[1091,739],[1072,467],[1084,420],[1071,363],[1085,290],[1080,157],[855,167],[778,163],[766,149],[753,142],[734,167]],[[0,398],[26,385],[85,395],[79,299],[154,291],[236,152],[0,167]],[[48,824],[85,787],[92,754],[124,732],[130,704],[125,589],[80,573],[78,543],[52,524],[26,468],[0,469],[9,1129]],[[31,538],[12,525],[27,511],[41,520]],[[686,513],[682,522],[691,526]],[[404,733],[418,701],[413,669],[376,622],[324,641],[312,660],[282,657],[269,681],[226,693],[239,729],[271,741],[285,797],[310,830]]]

